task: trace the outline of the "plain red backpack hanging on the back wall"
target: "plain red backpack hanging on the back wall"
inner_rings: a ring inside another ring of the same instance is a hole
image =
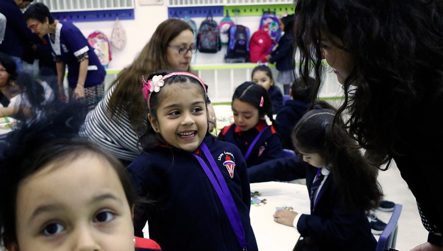
[[[249,42],[249,56],[251,63],[266,63],[266,55],[272,52],[272,39],[267,31],[255,31]]]

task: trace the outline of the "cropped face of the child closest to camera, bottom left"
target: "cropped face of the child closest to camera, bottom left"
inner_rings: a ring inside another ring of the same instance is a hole
[[[94,155],[50,163],[19,184],[20,251],[134,251],[132,212],[110,164]]]

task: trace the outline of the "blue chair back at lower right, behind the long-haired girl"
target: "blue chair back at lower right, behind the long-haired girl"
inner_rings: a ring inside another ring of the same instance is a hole
[[[389,222],[386,224],[383,232],[381,232],[376,251],[383,251],[387,248],[395,249],[398,232],[398,219],[402,213],[402,208],[403,206],[401,204],[395,204],[391,219],[389,219]]]

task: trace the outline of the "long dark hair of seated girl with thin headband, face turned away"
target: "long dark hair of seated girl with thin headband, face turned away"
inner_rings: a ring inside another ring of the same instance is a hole
[[[310,109],[292,131],[295,149],[323,157],[347,207],[377,208],[382,196],[378,169],[363,157],[343,127],[343,120],[336,116],[335,108],[319,101]]]

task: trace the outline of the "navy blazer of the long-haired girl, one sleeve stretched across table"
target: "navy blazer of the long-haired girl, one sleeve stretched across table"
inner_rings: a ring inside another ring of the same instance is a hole
[[[306,178],[308,192],[317,168],[303,162],[301,156],[278,158],[248,169],[251,182],[289,181]],[[328,174],[323,171],[322,174]],[[325,177],[315,209],[310,215],[300,214],[297,231],[310,237],[319,251],[374,251],[377,241],[371,233],[363,209],[351,209],[344,204],[332,174]],[[297,211],[297,209],[294,209]]]

